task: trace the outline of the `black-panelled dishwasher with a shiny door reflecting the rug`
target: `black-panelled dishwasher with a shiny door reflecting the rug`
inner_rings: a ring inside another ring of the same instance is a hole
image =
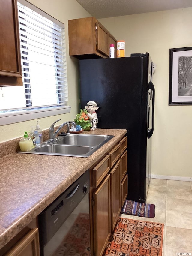
[[[91,255],[89,170],[38,216],[41,256]]]

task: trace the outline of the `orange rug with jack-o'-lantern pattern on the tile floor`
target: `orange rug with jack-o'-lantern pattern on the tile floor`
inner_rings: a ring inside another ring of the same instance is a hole
[[[161,256],[164,224],[118,218],[104,255]]]

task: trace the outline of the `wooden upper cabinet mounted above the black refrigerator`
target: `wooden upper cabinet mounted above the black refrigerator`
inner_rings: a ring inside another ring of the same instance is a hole
[[[69,55],[78,59],[108,58],[116,39],[95,17],[68,20]]]

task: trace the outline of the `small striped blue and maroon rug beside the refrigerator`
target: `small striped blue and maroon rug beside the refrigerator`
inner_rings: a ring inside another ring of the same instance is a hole
[[[131,200],[125,200],[121,213],[139,217],[155,218],[155,204],[137,203]]]

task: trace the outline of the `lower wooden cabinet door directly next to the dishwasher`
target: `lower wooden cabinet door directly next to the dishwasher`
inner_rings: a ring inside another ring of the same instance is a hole
[[[95,256],[101,256],[111,234],[110,175],[93,193],[93,236]]]

